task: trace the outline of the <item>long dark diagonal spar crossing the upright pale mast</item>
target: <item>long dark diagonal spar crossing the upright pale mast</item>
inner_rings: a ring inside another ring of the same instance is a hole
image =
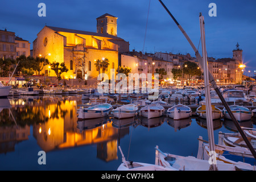
[[[191,47],[193,48],[193,50],[195,51],[195,55],[196,55],[196,59],[199,61],[200,65],[203,66],[203,59],[201,57],[201,55],[199,54],[197,48],[195,47],[195,45],[192,43],[191,39],[188,37],[187,33],[183,30],[183,28],[180,26],[180,24],[177,22],[177,20],[174,18],[174,16],[171,14],[171,12],[167,9],[167,7],[164,5],[164,3],[161,0],[158,0],[162,6],[164,7],[164,9],[166,9],[167,13],[171,16],[171,18],[174,20],[174,22],[177,24],[177,26],[180,28],[180,31],[183,33],[183,35],[185,36],[185,38],[188,40],[189,44],[191,45]],[[220,100],[222,102],[222,104],[224,105],[226,111],[229,113],[230,118],[232,119],[234,125],[237,127],[237,130],[239,131],[241,137],[243,138],[243,140],[245,141],[247,147],[249,148],[249,150],[251,151],[251,154],[253,154],[254,159],[256,160],[256,151],[254,150],[253,146],[251,145],[251,143],[249,142],[249,140],[247,139],[245,133],[243,132],[243,130],[241,129],[241,126],[239,125],[237,119],[234,117],[232,111],[230,110],[228,104],[226,103],[224,97],[222,96],[220,89],[218,89],[218,86],[216,84],[216,82],[214,81],[214,77],[212,75],[211,72],[209,72],[209,81],[213,86],[213,89],[216,91],[218,97],[220,97]]]

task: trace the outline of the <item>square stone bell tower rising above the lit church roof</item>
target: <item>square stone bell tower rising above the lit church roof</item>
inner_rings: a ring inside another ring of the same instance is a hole
[[[117,36],[117,17],[106,13],[96,20],[97,33]]]

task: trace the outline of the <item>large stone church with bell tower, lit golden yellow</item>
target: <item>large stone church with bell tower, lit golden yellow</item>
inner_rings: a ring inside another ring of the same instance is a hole
[[[98,76],[96,60],[109,60],[106,74],[110,77],[110,69],[118,68],[118,53],[129,52],[129,42],[117,36],[117,17],[104,14],[97,19],[97,32],[72,30],[68,28],[44,26],[33,42],[33,56],[42,55],[50,63],[65,63],[67,73],[65,79]],[[49,65],[46,75],[55,76]]]

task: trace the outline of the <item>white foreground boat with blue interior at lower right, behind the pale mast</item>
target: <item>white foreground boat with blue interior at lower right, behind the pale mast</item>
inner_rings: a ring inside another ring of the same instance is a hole
[[[255,159],[249,150],[243,147],[229,147],[222,144],[215,144],[214,146],[216,160],[228,164],[234,164],[237,168],[242,170],[255,171]],[[197,152],[197,159],[209,160],[210,149],[207,141],[199,137],[199,149]]]

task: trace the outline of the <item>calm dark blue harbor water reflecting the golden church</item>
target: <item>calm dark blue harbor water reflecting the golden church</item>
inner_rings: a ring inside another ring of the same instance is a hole
[[[174,121],[166,116],[78,121],[81,96],[19,96],[2,99],[0,170],[116,171],[126,160],[155,163],[155,146],[163,152],[197,156],[199,136],[208,140],[207,122],[192,116]],[[254,127],[256,119],[241,122]],[[213,121],[218,133],[236,133],[228,119]],[[42,151],[45,164],[40,163]]]

